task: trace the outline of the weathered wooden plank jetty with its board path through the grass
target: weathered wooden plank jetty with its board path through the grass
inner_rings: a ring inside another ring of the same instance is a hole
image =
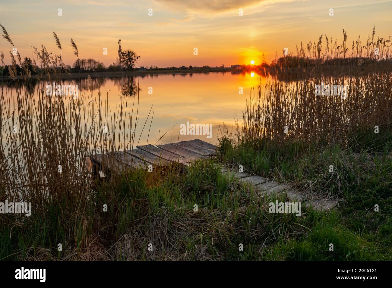
[[[106,154],[91,155],[90,159],[93,164],[93,172],[95,176],[101,172],[102,174],[111,175],[118,174],[130,168],[149,168],[154,166],[170,165],[180,163],[181,165],[191,166],[198,159],[207,159],[214,157],[216,154],[216,146],[200,139],[190,141],[181,141],[178,143],[170,143],[165,145],[139,145],[136,149],[109,152]],[[329,199],[325,196],[308,195],[306,192],[292,189],[289,185],[281,185],[276,181],[269,181],[256,175],[250,175],[245,172],[230,171],[226,167],[221,169],[222,174],[228,177],[238,179],[254,186],[254,191],[260,196],[267,197],[273,193],[286,193],[287,199],[290,201],[306,201],[314,209],[322,211],[329,210],[338,205],[335,199]]]

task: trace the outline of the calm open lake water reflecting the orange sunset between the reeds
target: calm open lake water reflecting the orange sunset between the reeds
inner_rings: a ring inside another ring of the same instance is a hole
[[[65,80],[64,84],[77,83],[77,81]],[[256,89],[260,85],[260,81],[265,83],[265,78],[260,78],[257,74],[231,74],[230,72],[160,74],[122,79],[95,78],[93,94],[98,95],[100,89],[104,100],[108,95],[109,106],[114,112],[121,103],[122,93],[127,95],[125,97],[128,105],[132,105],[134,97],[137,102],[139,86],[139,123],[136,134],[138,136],[142,134],[140,145],[147,143],[148,134],[148,143],[154,144],[166,132],[167,134],[157,144],[194,138],[216,144],[219,128],[223,129],[223,125],[226,125],[231,130],[235,119],[242,118],[246,98],[249,97],[251,88]],[[87,80],[83,79],[79,83],[83,91]],[[243,94],[239,94],[239,87],[243,87]],[[36,93],[36,88],[32,87],[31,93]],[[151,106],[154,112],[151,130],[148,131],[152,111],[142,132]],[[211,124],[212,137],[180,135],[180,125],[186,124],[187,121],[189,124]]]

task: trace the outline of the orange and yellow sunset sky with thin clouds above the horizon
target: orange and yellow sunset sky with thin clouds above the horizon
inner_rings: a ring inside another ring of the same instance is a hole
[[[329,16],[330,8],[334,16]],[[391,11],[392,0],[13,0],[2,1],[0,23],[22,57],[33,57],[31,46],[41,43],[60,54],[53,39],[56,32],[67,65],[76,59],[73,38],[80,58],[95,58],[105,65],[116,60],[117,40],[122,39],[123,49],[141,56],[138,67],[229,66],[250,60],[258,65],[263,53],[271,61],[284,47],[296,54],[296,44],[317,41],[321,34],[338,38],[339,45],[342,29],[347,30],[348,47],[359,35],[366,42],[374,25],[376,36],[388,38]],[[103,55],[104,47],[108,55]],[[198,55],[193,54],[194,47]],[[11,48],[0,39],[5,63],[10,62]]]

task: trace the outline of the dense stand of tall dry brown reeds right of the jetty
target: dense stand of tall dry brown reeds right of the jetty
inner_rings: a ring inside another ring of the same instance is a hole
[[[388,64],[389,65],[389,64]],[[241,141],[255,139],[287,143],[301,142],[345,146],[350,135],[359,131],[390,128],[392,121],[392,74],[388,71],[368,71],[367,74],[334,76],[310,74],[295,82],[267,78],[265,87],[247,101],[243,125],[239,125]],[[315,86],[347,85],[347,99],[341,96],[316,96]],[[288,133],[284,133],[287,126]]]

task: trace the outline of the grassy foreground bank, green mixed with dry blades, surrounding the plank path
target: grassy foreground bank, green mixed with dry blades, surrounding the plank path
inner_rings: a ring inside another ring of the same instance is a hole
[[[339,146],[254,147],[221,139],[216,160],[186,170],[133,170],[97,185],[85,203],[53,201],[31,217],[0,215],[0,259],[392,260],[389,146],[359,153]],[[222,175],[221,162],[345,202],[323,213],[303,203],[300,217],[270,214],[269,202],[287,199],[257,196]]]

